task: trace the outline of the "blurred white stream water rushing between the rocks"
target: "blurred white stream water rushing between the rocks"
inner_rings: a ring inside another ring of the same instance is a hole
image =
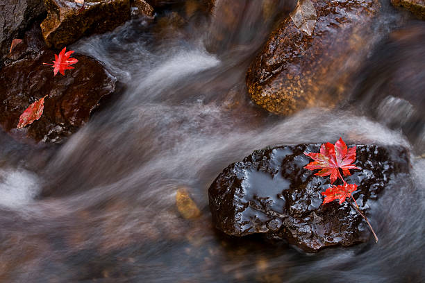
[[[293,2],[277,3],[267,18],[282,17]],[[224,33],[219,43],[215,34],[226,28],[195,15],[159,30],[160,20],[133,19],[73,46],[103,62],[122,89],[61,146],[35,150],[1,133],[1,282],[423,280],[422,153],[399,128],[356,107],[283,118],[250,103],[246,70],[273,25],[262,20],[263,4],[241,0],[237,32]],[[394,26],[382,21],[376,40],[397,27],[394,14],[383,17]],[[158,18],[174,16],[166,10]],[[385,114],[397,103],[387,98],[376,107]],[[372,204],[378,244],[307,254],[258,237],[231,239],[212,227],[207,190],[228,164],[268,145],[340,136],[412,152],[412,182],[397,180],[397,191]],[[200,218],[178,214],[179,187],[188,189]]]

